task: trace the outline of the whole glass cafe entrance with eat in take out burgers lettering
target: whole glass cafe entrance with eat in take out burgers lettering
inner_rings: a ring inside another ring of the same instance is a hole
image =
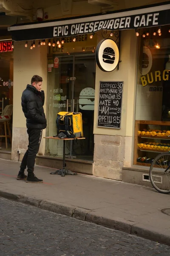
[[[96,61],[94,54],[59,55],[53,57],[54,68],[48,72],[48,136],[57,133],[56,116],[60,111],[82,113],[85,140],[68,141],[66,157],[93,160],[94,96]],[[56,64],[55,64],[56,62]],[[53,134],[51,134],[53,132]],[[48,142],[46,152],[62,155],[62,144]]]

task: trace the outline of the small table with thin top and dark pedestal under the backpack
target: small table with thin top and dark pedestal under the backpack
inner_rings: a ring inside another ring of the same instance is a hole
[[[61,175],[62,177],[65,177],[66,174],[70,175],[77,175],[77,172],[71,172],[70,170],[65,169],[65,141],[66,140],[84,140],[85,138],[65,138],[65,139],[60,139],[57,137],[44,137],[45,139],[53,139],[53,140],[63,140],[63,160],[62,160],[62,169],[57,170],[55,172],[51,172],[50,174],[58,174]]]

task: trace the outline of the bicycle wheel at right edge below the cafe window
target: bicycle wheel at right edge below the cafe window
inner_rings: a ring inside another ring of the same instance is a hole
[[[150,182],[160,193],[170,193],[170,153],[159,154],[150,166]]]

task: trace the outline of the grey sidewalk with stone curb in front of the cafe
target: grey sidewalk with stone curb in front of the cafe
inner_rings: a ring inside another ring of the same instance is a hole
[[[20,163],[0,160],[0,196],[170,245],[170,195],[152,188],[88,175],[50,175],[36,166],[44,183],[16,180]]]

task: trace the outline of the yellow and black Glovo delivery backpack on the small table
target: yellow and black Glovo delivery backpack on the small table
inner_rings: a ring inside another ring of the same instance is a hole
[[[63,132],[67,137],[83,137],[82,113],[59,112],[57,113],[57,135]]]

